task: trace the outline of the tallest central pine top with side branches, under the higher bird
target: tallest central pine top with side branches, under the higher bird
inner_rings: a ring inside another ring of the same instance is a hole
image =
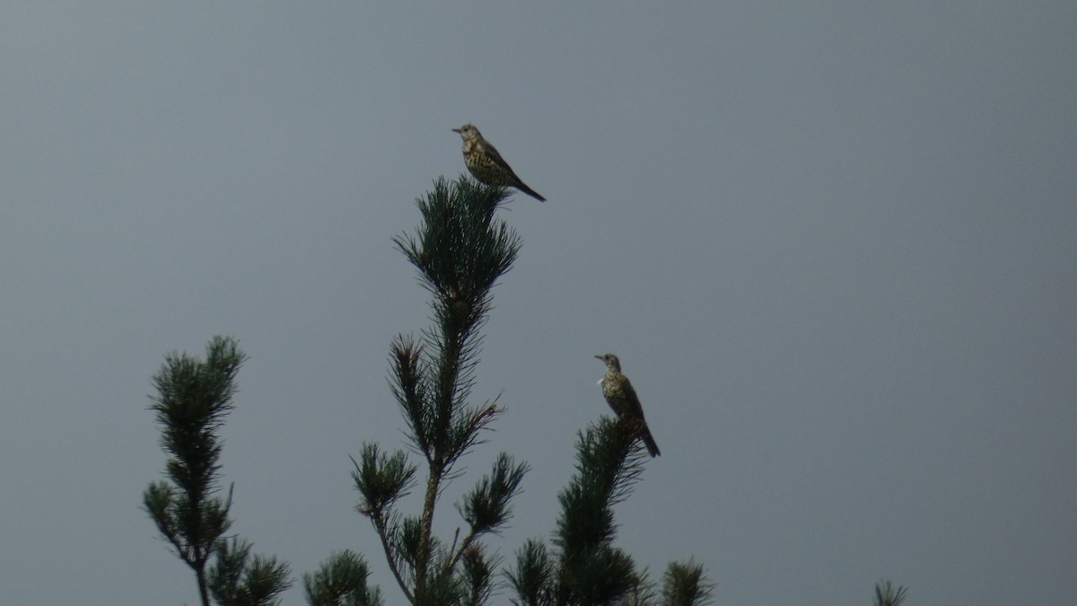
[[[433,326],[418,340],[397,335],[390,347],[392,392],[407,438],[423,457],[422,509],[405,515],[397,508],[419,481],[419,466],[403,451],[364,444],[352,477],[360,493],[356,509],[370,520],[390,570],[415,606],[485,603],[498,559],[487,552],[482,537],[507,523],[528,470],[501,453],[490,473],[457,504],[466,524],[463,536],[458,531],[451,542],[434,536],[445,484],[460,476],[461,458],[504,412],[496,398],[475,404],[471,396],[492,289],[520,247],[516,233],[494,218],[507,195],[504,188],[463,177],[454,183],[438,179],[416,201],[422,215],[416,233],[393,240],[432,294]]]

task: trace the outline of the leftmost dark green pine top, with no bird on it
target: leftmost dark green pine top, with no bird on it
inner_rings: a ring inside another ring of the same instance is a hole
[[[234,486],[226,498],[219,496],[218,432],[233,409],[236,373],[246,359],[236,340],[214,336],[205,361],[169,354],[153,377],[157,396],[152,397],[150,410],[162,428],[170,482],[151,483],[142,505],[176,554],[194,570],[202,606],[209,606],[210,594],[222,606],[275,604],[291,584],[286,564],[276,557],[252,557],[249,543],[225,538],[232,525]],[[211,559],[213,566],[208,568]]]

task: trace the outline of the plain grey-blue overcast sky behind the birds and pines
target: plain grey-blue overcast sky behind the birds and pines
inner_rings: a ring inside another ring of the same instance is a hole
[[[1064,604],[1077,566],[1077,3],[0,6],[0,591],[197,603],[141,494],[164,355],[240,340],[235,531],[364,553],[350,455],[403,446],[391,238],[475,123],[549,202],[475,396],[550,536],[613,352],[662,456],[617,507],[716,604]],[[416,495],[414,495],[416,496]],[[418,499],[407,501],[412,511]],[[502,592],[495,604],[507,604]]]

